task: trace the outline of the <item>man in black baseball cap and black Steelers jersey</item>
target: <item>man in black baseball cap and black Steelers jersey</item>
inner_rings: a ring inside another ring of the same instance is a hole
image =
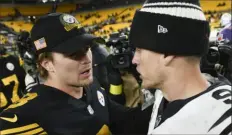
[[[45,82],[0,114],[0,134],[109,135],[136,123],[140,108],[110,101],[92,77],[97,41],[69,14],[41,17],[31,30]],[[139,117],[138,117],[139,118]]]

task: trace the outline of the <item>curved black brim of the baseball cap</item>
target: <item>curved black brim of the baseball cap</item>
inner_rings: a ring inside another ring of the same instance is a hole
[[[94,42],[104,44],[105,40],[92,34],[78,35],[59,44],[57,47],[53,48],[52,51],[69,54],[75,53],[84,47],[91,46]]]

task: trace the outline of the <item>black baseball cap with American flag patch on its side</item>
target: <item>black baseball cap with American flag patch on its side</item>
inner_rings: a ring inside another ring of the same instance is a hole
[[[103,41],[88,34],[74,16],[64,13],[40,17],[31,30],[31,40],[37,55],[43,52],[71,54],[95,41]]]

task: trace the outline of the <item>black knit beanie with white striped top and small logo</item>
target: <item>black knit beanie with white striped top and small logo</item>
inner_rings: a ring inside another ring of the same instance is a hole
[[[198,0],[147,0],[135,13],[129,40],[158,53],[202,56],[208,51],[209,23]]]

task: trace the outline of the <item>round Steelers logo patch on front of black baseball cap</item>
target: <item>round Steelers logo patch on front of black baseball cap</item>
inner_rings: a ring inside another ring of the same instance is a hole
[[[74,28],[78,29],[81,27],[80,22],[78,22],[74,16],[68,14],[61,15],[60,22],[64,25],[64,29],[66,31],[70,31]]]

